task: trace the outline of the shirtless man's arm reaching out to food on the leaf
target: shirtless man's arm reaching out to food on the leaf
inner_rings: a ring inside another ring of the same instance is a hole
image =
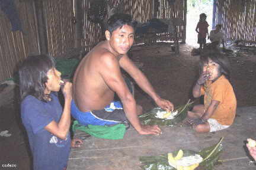
[[[120,66],[130,74],[130,76],[136,81],[138,86],[145,91],[145,93],[149,94],[149,96],[152,97],[152,99],[155,101],[156,104],[158,104],[159,107],[162,107],[162,109],[165,110],[173,110],[174,106],[171,102],[168,100],[162,99],[158,94],[156,94],[155,90],[153,89],[151,83],[146,78],[146,76],[142,73],[142,71],[139,70],[133,64],[133,62],[129,59],[127,55],[124,55],[121,57]]]

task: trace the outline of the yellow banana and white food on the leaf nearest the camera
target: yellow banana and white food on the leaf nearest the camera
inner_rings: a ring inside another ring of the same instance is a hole
[[[200,155],[183,156],[183,151],[180,149],[174,157],[172,153],[168,153],[169,165],[177,170],[194,170],[199,166],[203,158]]]

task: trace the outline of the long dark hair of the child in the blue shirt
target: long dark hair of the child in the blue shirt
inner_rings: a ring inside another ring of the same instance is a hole
[[[48,80],[47,71],[53,67],[53,58],[44,54],[30,55],[23,61],[19,69],[21,100],[31,95],[46,102],[44,90]]]

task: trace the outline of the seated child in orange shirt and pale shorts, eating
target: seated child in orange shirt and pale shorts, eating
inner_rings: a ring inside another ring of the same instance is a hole
[[[188,111],[188,122],[196,132],[215,132],[232,125],[236,97],[229,83],[228,58],[216,51],[201,55],[201,74],[193,87],[193,96],[204,95],[204,104]]]

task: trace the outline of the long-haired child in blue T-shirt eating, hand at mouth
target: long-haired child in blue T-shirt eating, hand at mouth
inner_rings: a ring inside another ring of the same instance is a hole
[[[46,55],[27,57],[19,70],[21,119],[27,131],[34,170],[66,169],[73,139],[71,125],[72,83],[63,83],[52,58]],[[63,83],[64,109],[57,98]]]

